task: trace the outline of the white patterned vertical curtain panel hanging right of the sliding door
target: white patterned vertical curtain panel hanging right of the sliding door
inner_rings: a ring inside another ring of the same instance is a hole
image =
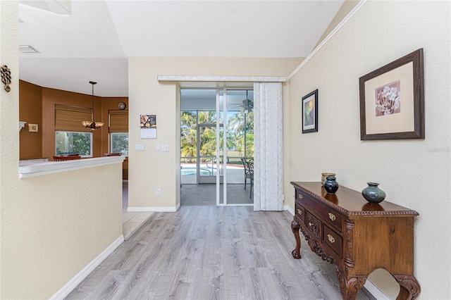
[[[254,83],[254,211],[283,210],[282,82]]]

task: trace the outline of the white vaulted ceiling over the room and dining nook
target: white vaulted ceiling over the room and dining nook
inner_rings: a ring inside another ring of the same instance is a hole
[[[342,2],[20,0],[20,79],[128,96],[129,56],[305,57]]]

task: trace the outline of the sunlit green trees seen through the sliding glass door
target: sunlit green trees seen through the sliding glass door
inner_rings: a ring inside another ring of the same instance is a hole
[[[200,155],[216,156],[216,126],[202,125],[216,124],[216,121],[223,123],[222,116],[220,115],[218,119],[215,111],[183,111],[180,118],[180,156],[188,158],[187,162],[190,163],[196,161],[197,118],[199,118],[200,126]],[[229,113],[226,137],[228,154],[240,157],[254,156],[254,113],[244,113],[242,111]],[[223,127],[221,127],[221,132],[219,132],[219,138],[220,153],[222,153]]]

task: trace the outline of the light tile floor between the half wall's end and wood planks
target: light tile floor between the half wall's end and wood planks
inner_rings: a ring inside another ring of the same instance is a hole
[[[122,232],[129,239],[154,214],[153,211],[130,212],[128,208],[128,181],[122,184]]]

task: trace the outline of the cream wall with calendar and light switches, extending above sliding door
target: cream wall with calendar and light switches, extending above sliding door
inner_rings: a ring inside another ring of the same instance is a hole
[[[130,57],[128,206],[135,210],[175,211],[180,204],[180,95],[175,83],[158,75],[288,76],[302,58]],[[156,139],[140,139],[140,115],[156,115]],[[146,151],[135,151],[144,144]],[[169,145],[157,152],[156,144]],[[161,189],[161,196],[155,189]]]

